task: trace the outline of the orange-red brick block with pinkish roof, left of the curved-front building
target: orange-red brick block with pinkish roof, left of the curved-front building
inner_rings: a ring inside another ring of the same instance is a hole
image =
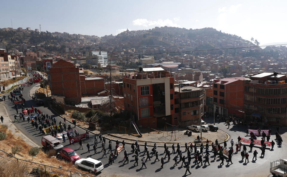
[[[216,114],[242,117],[244,77],[213,80],[213,104]]]

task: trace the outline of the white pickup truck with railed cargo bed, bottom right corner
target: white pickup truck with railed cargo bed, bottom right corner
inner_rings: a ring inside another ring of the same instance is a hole
[[[270,173],[273,176],[287,176],[287,160],[280,159],[270,163]]]

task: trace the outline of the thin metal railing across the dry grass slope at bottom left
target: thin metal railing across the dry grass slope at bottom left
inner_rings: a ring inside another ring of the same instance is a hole
[[[71,170],[66,170],[66,169],[62,169],[62,168],[58,168],[58,167],[53,167],[53,166],[49,166],[49,165],[45,165],[45,164],[40,164],[40,163],[36,163],[36,162],[31,162],[31,161],[27,161],[27,160],[23,160],[23,159],[20,159],[20,158],[17,158],[15,156],[12,156],[11,154],[3,151],[0,149],[1,152],[7,154],[9,157],[13,157],[13,159],[16,159],[16,161],[13,161],[13,160],[9,160],[5,157],[3,157],[2,155],[0,155],[1,158],[4,158],[14,164],[17,164],[17,165],[20,165],[20,166],[23,166],[23,167],[27,167],[27,168],[31,168],[31,169],[35,169],[35,170],[40,170],[40,171],[44,171],[44,172],[48,172],[48,173],[53,173],[53,174],[57,174],[57,175],[62,175],[62,176],[69,176],[69,177],[73,177],[74,176],[78,176],[78,174],[80,175],[86,175],[86,176],[93,176],[93,177],[96,177],[94,175],[88,175],[88,174],[84,174],[84,173],[79,173],[79,172],[75,172],[75,171],[71,171]],[[21,161],[23,161],[21,163]],[[27,165],[28,163],[32,163],[32,164],[36,164],[36,167],[31,167],[29,165]],[[44,170],[40,169],[40,167],[43,167],[44,166]],[[56,173],[55,171],[53,172],[52,169],[58,169],[59,171],[65,171],[65,172],[68,172],[66,174],[62,174],[62,173]]]

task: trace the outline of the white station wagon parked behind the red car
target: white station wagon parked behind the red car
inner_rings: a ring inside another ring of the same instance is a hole
[[[92,173],[92,172],[97,173],[104,169],[104,166],[101,161],[96,160],[94,158],[90,158],[90,157],[81,158],[75,161],[75,165],[80,168],[88,170],[89,173]]]

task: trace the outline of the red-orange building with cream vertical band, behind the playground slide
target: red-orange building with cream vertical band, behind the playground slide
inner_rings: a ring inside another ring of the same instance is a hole
[[[134,76],[123,77],[125,110],[138,126],[176,125],[174,115],[174,78],[161,67],[140,68]]]

